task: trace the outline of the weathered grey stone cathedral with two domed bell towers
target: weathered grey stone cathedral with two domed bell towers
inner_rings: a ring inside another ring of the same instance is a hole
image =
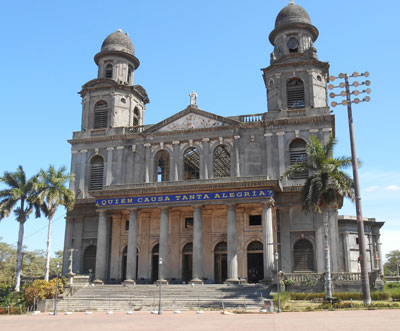
[[[94,56],[74,132],[63,273],[96,284],[259,283],[284,274],[324,272],[323,214],[305,213],[308,174],[283,177],[307,157],[313,135],[335,132],[328,105],[329,64],[318,59],[318,30],[299,5],[278,14],[262,69],[267,106],[224,117],[189,105],[145,122],[149,96],[135,84],[139,60],[118,30]],[[260,77],[261,78],[261,77]],[[327,208],[333,273],[359,272],[356,218]],[[365,219],[370,272],[382,272],[382,222]],[[73,253],[70,253],[73,252]]]

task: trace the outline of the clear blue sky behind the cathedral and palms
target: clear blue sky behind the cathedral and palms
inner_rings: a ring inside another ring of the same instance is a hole
[[[201,109],[222,116],[267,111],[261,68],[268,41],[288,0],[9,1],[0,12],[0,175],[23,165],[28,176],[50,164],[70,168],[67,142],[80,129],[77,92],[96,78],[93,57],[117,29],[128,32],[141,64],[135,84],[150,98],[145,124],[189,104],[195,90]],[[314,43],[330,74],[370,73],[371,102],[353,106],[363,215],[384,221],[383,252],[400,249],[400,153],[394,149],[400,120],[397,99],[398,13],[395,0],[297,0],[319,30]],[[388,10],[390,8],[390,10]],[[397,41],[396,41],[397,40]],[[362,80],[360,80],[362,81]],[[397,105],[397,106],[396,106]],[[350,156],[347,111],[336,117],[335,154]],[[397,144],[396,144],[397,145]],[[3,186],[0,185],[0,189]],[[339,211],[355,215],[345,202]],[[54,219],[52,252],[64,243],[65,210]],[[28,249],[45,249],[47,220],[30,216]],[[0,222],[0,237],[16,244],[14,216]]]

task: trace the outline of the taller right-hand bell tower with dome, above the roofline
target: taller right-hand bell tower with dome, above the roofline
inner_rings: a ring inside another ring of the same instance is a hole
[[[325,109],[328,62],[318,60],[314,42],[318,30],[305,9],[293,1],[283,8],[269,35],[274,46],[264,69],[268,111]]]

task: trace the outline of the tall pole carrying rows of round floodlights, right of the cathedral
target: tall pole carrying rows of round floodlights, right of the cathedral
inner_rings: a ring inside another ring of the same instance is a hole
[[[370,295],[370,290],[369,290],[369,278],[368,278],[368,271],[367,271],[367,261],[366,261],[366,248],[365,248],[365,235],[364,235],[364,221],[363,221],[363,216],[362,216],[362,209],[361,209],[361,195],[360,195],[360,182],[358,179],[358,161],[357,161],[357,152],[356,152],[356,143],[355,143],[355,138],[354,138],[354,125],[353,125],[353,114],[352,114],[352,109],[351,105],[352,103],[358,104],[360,102],[369,102],[370,97],[366,96],[362,100],[359,98],[355,98],[354,100],[351,100],[351,95],[358,96],[359,94],[362,93],[371,93],[371,89],[367,88],[363,91],[350,91],[350,86],[358,87],[360,85],[366,85],[369,86],[371,82],[369,80],[366,80],[365,82],[359,83],[357,81],[354,81],[353,83],[350,84],[349,78],[355,78],[359,76],[364,76],[368,77],[369,73],[366,71],[362,74],[359,74],[357,72],[354,72],[351,76],[348,74],[339,74],[339,77],[331,76],[329,78],[330,81],[334,81],[335,79],[344,79],[344,82],[341,82],[339,86],[333,86],[330,84],[328,88],[330,90],[334,88],[345,88],[344,91],[342,91],[340,94],[335,94],[334,92],[330,93],[329,96],[331,98],[335,98],[336,96],[342,96],[346,97],[345,100],[342,100],[341,104],[343,106],[347,105],[347,113],[348,113],[348,118],[349,118],[349,132],[350,132],[350,146],[351,146],[351,157],[352,157],[352,166],[353,166],[353,180],[354,180],[354,193],[355,193],[355,202],[356,202],[356,213],[357,213],[357,227],[358,227],[358,240],[359,240],[359,259],[360,259],[360,264],[361,264],[361,286],[362,286],[362,292],[363,292],[363,299],[364,299],[364,304],[370,304],[371,303],[371,295]],[[336,107],[338,105],[337,102],[333,101],[331,103],[332,107]]]

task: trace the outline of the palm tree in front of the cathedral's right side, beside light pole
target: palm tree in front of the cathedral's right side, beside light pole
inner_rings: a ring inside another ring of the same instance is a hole
[[[350,157],[333,157],[336,140],[331,136],[326,145],[314,136],[307,144],[307,159],[292,165],[284,176],[295,177],[308,174],[302,189],[302,207],[306,212],[323,214],[325,229],[325,289],[326,298],[332,298],[331,263],[329,252],[328,206],[337,200],[338,195],[354,200],[353,180],[341,169],[351,167]]]

